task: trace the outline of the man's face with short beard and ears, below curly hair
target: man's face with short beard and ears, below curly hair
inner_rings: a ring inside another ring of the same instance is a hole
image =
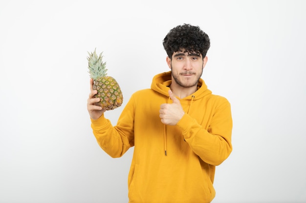
[[[167,57],[168,66],[172,71],[172,82],[183,88],[197,86],[206,62],[207,56],[202,58],[201,54],[175,52],[172,59]]]

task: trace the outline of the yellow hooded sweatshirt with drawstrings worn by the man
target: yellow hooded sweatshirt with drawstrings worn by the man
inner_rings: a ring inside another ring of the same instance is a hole
[[[151,89],[131,96],[114,127],[104,115],[91,120],[98,144],[111,157],[134,146],[129,203],[210,203],[215,166],[232,151],[230,104],[202,79],[197,92],[180,99],[185,114],[176,126],[161,123],[160,105],[172,102],[170,84],[171,72],[155,75]]]

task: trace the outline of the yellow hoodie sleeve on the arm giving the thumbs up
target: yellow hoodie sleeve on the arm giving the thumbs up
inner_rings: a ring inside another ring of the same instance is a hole
[[[231,153],[232,116],[230,103],[224,98],[212,112],[208,129],[187,113],[176,124],[185,141],[206,163],[220,165]]]

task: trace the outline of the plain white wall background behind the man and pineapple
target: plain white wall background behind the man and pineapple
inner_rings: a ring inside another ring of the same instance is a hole
[[[87,51],[104,51],[125,106],[169,70],[162,40],[183,23],[210,36],[202,77],[232,105],[213,202],[305,203],[305,11],[303,0],[1,1],[0,203],[127,203],[133,148],[112,159],[96,143]]]

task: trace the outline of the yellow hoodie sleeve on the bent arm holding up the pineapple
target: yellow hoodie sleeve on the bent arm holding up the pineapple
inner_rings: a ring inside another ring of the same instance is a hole
[[[104,114],[97,120],[91,119],[91,128],[99,146],[113,158],[121,157],[134,146],[133,106],[130,100],[114,127]]]

